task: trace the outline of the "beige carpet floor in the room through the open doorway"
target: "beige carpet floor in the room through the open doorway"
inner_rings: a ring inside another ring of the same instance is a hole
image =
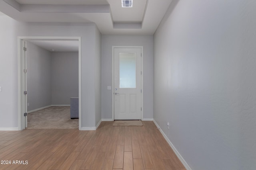
[[[69,106],[53,106],[28,113],[27,129],[78,129],[78,119],[70,119]]]

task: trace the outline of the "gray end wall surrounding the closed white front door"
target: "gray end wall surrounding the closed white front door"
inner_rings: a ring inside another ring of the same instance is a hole
[[[153,118],[153,36],[102,35],[102,119],[112,119],[112,46],[143,46],[144,118]]]

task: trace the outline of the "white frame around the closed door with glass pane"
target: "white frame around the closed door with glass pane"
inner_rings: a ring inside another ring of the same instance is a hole
[[[143,120],[143,46],[112,46],[112,121],[114,121],[114,49],[115,48],[140,48],[141,49],[141,120]]]

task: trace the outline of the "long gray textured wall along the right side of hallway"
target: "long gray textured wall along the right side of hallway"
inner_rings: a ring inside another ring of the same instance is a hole
[[[154,119],[193,170],[256,167],[255,9],[173,0],[154,34]]]

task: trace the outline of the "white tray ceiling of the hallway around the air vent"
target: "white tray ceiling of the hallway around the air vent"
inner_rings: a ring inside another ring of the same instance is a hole
[[[172,0],[0,0],[0,12],[24,22],[94,22],[104,35],[153,35]]]

